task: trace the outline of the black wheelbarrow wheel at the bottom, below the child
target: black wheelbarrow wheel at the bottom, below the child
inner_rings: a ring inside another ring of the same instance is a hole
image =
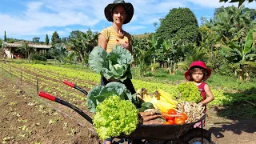
[[[211,144],[211,133],[209,130],[195,128],[191,129],[185,135],[183,135],[182,140],[189,144]]]

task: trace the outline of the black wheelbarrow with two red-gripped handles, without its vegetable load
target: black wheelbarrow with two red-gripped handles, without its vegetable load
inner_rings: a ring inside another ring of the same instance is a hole
[[[81,91],[83,94],[88,94],[86,90],[74,85],[72,82],[66,80],[63,81],[68,86],[73,87],[76,90]],[[38,94],[42,98],[47,98],[51,101],[58,102],[64,106],[68,106],[83,118],[86,118],[88,122],[93,124],[92,118],[84,113],[78,107],[65,102],[62,99],[55,98],[53,95],[46,94],[42,91]],[[206,118],[206,114],[202,116],[197,122],[201,122]],[[119,135],[117,138],[121,139],[142,139],[139,143],[148,144],[173,144],[173,143],[189,143],[189,144],[217,144],[217,138],[214,134],[211,134],[209,130],[203,128],[194,128],[194,124],[197,122],[190,122],[183,125],[138,125],[137,129],[129,135]],[[134,144],[134,143],[133,143]],[[136,143],[137,144],[137,143]]]

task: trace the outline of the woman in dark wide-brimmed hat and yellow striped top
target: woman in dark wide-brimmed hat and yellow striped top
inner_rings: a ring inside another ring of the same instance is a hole
[[[103,29],[98,35],[98,46],[102,46],[102,48],[109,53],[114,46],[120,45],[129,50],[132,54],[131,36],[129,33],[122,30],[122,25],[130,22],[134,15],[134,6],[123,0],[114,0],[113,3],[106,6],[104,13],[106,19],[113,23],[112,26]],[[109,82],[108,79],[104,77],[101,78],[102,86],[106,86]],[[130,78],[127,78],[122,83],[126,85],[126,88],[130,90],[131,94],[136,93]]]

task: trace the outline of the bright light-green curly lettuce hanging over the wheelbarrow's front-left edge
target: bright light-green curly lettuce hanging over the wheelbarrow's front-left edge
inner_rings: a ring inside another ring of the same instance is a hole
[[[102,139],[129,135],[138,126],[138,110],[132,102],[113,95],[98,104],[93,122]]]

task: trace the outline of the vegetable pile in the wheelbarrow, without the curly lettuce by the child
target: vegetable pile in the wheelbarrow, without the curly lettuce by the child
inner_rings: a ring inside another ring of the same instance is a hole
[[[95,113],[95,130],[102,139],[129,135],[138,125],[183,125],[203,116],[204,106],[195,102],[178,102],[172,94],[146,89],[130,94],[120,82],[95,86],[87,95],[87,106]]]

